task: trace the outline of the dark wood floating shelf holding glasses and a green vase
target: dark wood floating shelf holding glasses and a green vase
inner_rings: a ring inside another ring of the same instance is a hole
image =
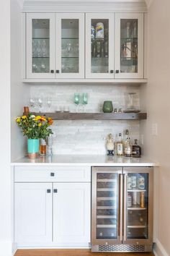
[[[54,120],[142,120],[147,118],[146,113],[32,113],[48,116]]]

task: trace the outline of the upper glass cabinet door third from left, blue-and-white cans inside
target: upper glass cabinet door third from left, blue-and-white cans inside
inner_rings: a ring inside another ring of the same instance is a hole
[[[114,14],[86,14],[86,77],[114,78]]]

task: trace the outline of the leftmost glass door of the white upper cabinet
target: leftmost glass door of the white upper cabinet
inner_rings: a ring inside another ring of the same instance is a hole
[[[55,77],[55,14],[27,14],[27,78]]]

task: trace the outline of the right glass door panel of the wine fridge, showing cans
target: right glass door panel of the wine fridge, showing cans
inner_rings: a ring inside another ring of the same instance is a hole
[[[124,239],[151,239],[151,173],[137,170],[125,174]]]

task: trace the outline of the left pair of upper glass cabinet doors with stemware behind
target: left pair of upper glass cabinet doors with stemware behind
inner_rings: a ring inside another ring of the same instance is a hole
[[[27,14],[27,78],[84,78],[84,14]]]

